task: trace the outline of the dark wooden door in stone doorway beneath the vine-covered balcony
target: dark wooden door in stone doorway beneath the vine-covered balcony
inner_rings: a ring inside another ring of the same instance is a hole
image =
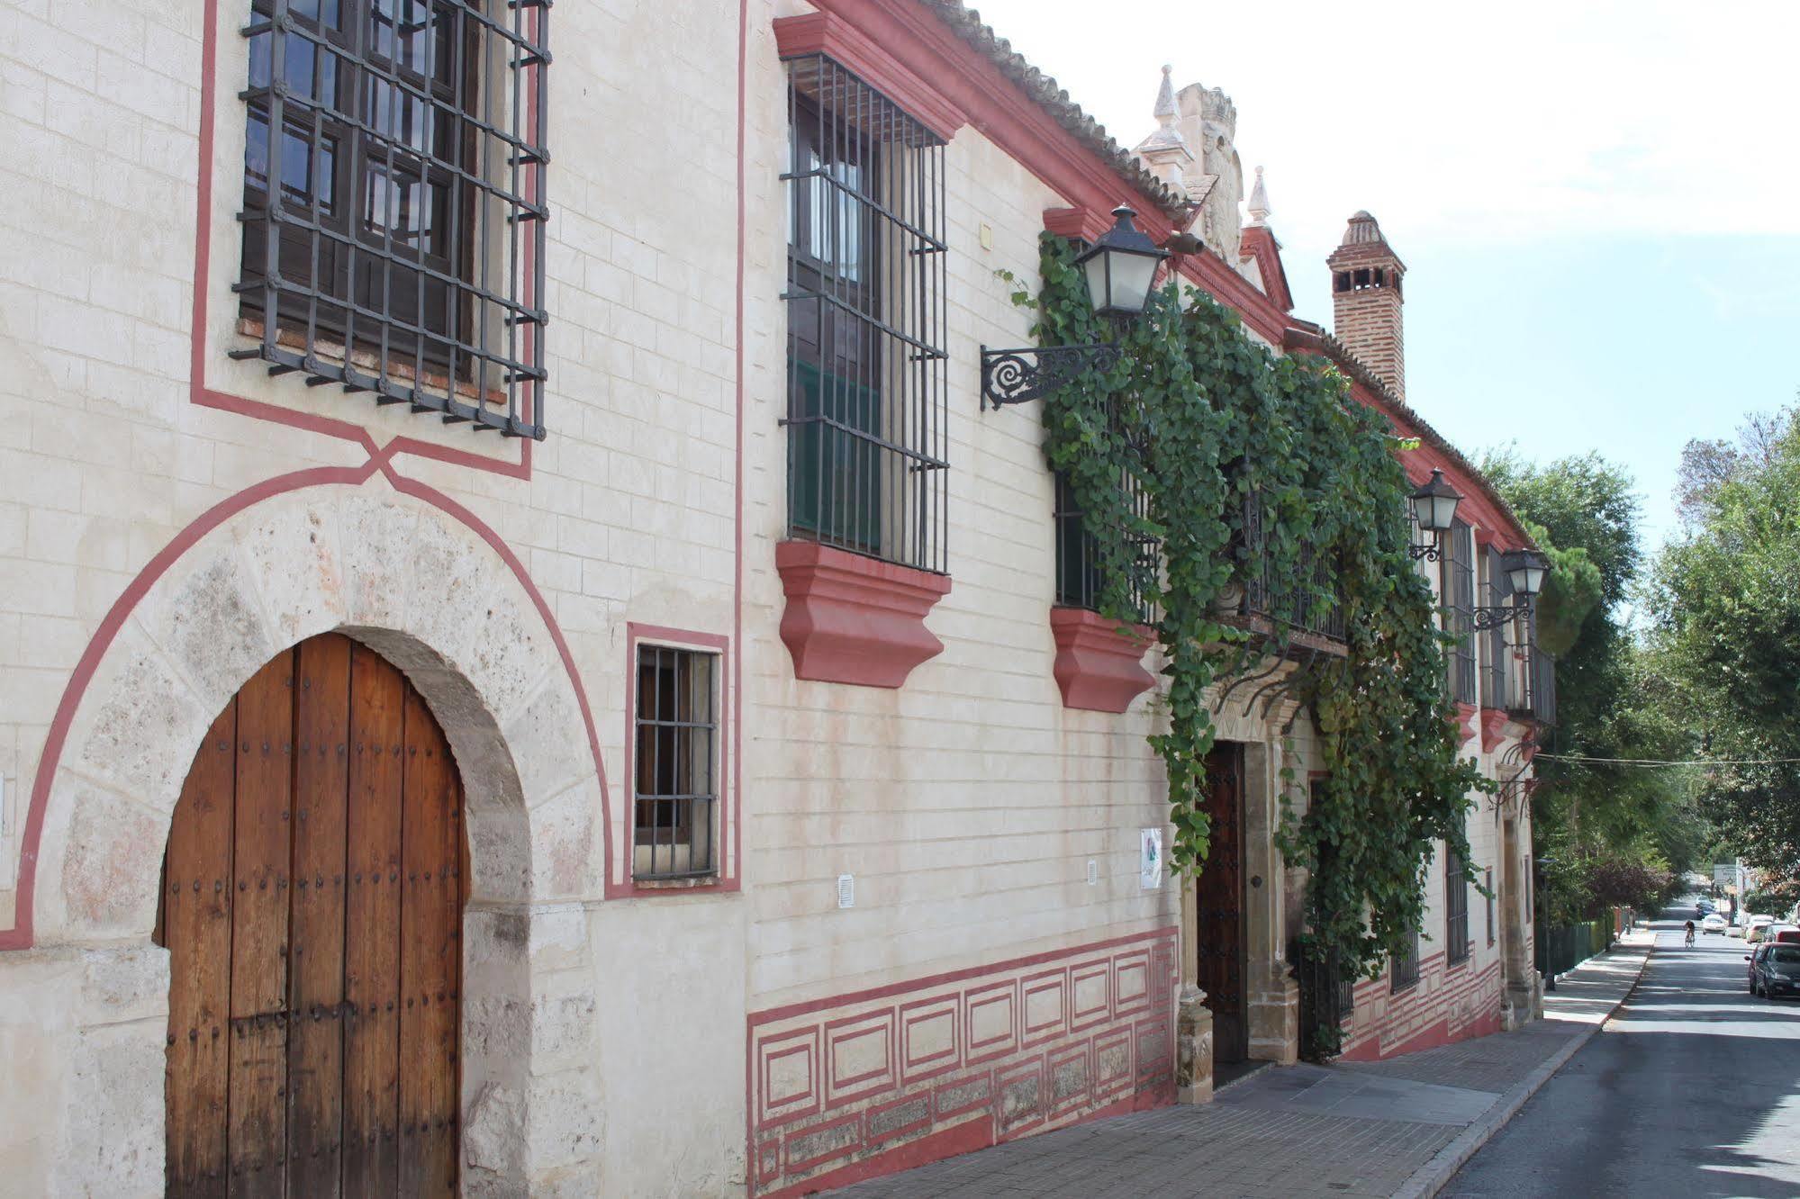
[[[1219,742],[1206,758],[1206,814],[1213,821],[1211,852],[1195,882],[1199,985],[1213,1012],[1213,1060],[1249,1057],[1244,988],[1244,753]]]

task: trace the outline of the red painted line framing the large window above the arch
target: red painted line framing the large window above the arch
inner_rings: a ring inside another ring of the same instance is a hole
[[[248,400],[245,396],[234,396],[223,391],[212,391],[205,383],[207,284],[212,261],[212,140],[218,130],[216,124],[218,115],[214,112],[214,92],[218,90],[218,0],[205,0],[202,20],[205,22],[205,27],[202,31],[202,41],[200,41],[200,148],[198,148],[198,187],[196,187],[198,194],[194,198],[194,207],[196,207],[194,304],[193,304],[193,328],[189,329],[191,346],[189,346],[187,398],[191,403],[196,403],[205,409],[236,412],[239,416],[248,416],[252,419],[272,421],[275,425],[286,425],[290,428],[304,428],[306,432],[315,432],[328,437],[338,437],[342,441],[356,441],[371,455],[376,455],[374,437],[364,425],[329,416],[317,416],[313,412],[297,412],[275,403],[265,403],[261,400]],[[531,275],[527,275],[527,279]],[[526,419],[531,418],[529,396],[524,414]],[[428,457],[439,463],[468,466],[472,470],[486,470],[511,479],[529,479],[531,437],[520,437],[518,443],[520,448],[517,463],[486,457],[482,454],[472,454],[468,450],[455,450],[430,441],[421,441],[418,437],[392,437],[391,441],[387,441],[387,445],[380,448],[380,455],[385,461],[398,457],[401,454],[412,454],[416,457]]]

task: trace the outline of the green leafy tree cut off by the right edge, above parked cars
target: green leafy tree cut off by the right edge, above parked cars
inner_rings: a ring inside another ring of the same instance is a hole
[[[1701,448],[1697,448],[1701,446]],[[1737,445],[1690,443],[1681,540],[1649,583],[1656,652],[1701,724],[1705,796],[1730,844],[1800,875],[1800,405]],[[1784,762],[1787,760],[1787,762]]]

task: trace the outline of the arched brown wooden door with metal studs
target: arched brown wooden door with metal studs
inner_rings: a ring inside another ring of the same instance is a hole
[[[466,873],[394,666],[331,634],[245,684],[164,859],[167,1194],[455,1194]]]

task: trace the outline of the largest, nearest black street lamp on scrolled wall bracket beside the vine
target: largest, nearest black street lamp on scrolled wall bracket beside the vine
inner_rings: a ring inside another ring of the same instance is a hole
[[[1150,302],[1156,268],[1168,250],[1156,248],[1132,223],[1130,205],[1112,209],[1112,229],[1082,250],[1075,265],[1087,279],[1087,302],[1094,315],[1127,319]],[[981,347],[981,407],[995,409],[1046,396],[1089,367],[1105,369],[1120,349],[1109,342],[1096,346],[1024,346],[1019,349]]]

